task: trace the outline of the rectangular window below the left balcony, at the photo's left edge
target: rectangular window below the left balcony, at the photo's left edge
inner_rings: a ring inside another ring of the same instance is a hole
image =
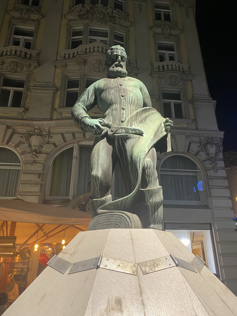
[[[0,87],[0,106],[20,107],[25,81],[3,78]]]

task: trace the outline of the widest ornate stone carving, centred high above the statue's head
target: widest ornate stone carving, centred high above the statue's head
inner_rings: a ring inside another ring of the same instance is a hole
[[[91,21],[98,24],[112,23],[119,26],[129,27],[132,22],[127,15],[119,10],[111,8],[109,5],[104,7],[102,4],[84,4],[76,7],[76,11],[65,14],[68,21]]]

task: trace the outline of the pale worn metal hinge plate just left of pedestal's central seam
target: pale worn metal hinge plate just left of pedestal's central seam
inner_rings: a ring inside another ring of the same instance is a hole
[[[137,275],[137,264],[128,261],[103,257],[100,268]]]

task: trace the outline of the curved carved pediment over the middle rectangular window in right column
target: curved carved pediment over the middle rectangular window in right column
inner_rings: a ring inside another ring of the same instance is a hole
[[[154,36],[164,38],[178,38],[179,34],[183,32],[175,24],[167,21],[157,23],[155,26],[150,27],[150,30],[154,33]]]

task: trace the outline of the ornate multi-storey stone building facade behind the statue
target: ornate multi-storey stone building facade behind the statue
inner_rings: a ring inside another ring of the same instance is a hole
[[[1,198],[88,210],[94,138],[71,107],[106,77],[110,46],[125,47],[128,76],[173,120],[172,152],[157,153],[164,229],[237,294],[237,241],[195,1],[1,0]],[[95,106],[88,114],[101,117]],[[124,194],[119,168],[112,195]]]

